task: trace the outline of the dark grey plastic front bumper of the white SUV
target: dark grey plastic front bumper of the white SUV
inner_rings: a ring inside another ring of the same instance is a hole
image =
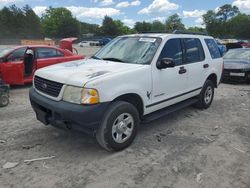
[[[36,117],[43,124],[83,132],[93,132],[98,128],[109,105],[79,105],[54,101],[38,94],[34,88],[30,89],[29,96]]]

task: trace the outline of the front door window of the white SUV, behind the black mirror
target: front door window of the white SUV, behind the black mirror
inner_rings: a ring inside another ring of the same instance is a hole
[[[169,39],[165,46],[161,51],[161,55],[158,61],[161,61],[163,58],[170,58],[173,60],[176,66],[182,64],[183,60],[183,53],[181,47],[181,40],[180,39]]]

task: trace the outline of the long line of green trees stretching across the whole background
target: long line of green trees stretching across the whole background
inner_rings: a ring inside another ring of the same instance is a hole
[[[50,7],[40,18],[28,5],[23,8],[12,5],[0,10],[0,38],[64,38],[88,33],[115,37],[143,32],[171,33],[174,30],[207,32],[222,38],[250,38],[250,16],[241,13],[238,7],[226,4],[217,11],[209,10],[203,15],[203,21],[205,28],[185,28],[180,16],[174,14],[165,22],[142,21],[129,28],[121,20],[105,16],[99,26],[78,21],[66,8]]]

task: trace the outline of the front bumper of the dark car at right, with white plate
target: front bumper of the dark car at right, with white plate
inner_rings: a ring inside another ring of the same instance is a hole
[[[246,82],[250,80],[250,70],[224,69],[222,81]]]

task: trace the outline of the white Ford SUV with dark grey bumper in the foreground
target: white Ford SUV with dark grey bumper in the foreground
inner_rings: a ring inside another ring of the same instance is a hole
[[[222,69],[209,36],[121,36],[90,59],[36,71],[30,101],[45,125],[94,133],[102,147],[118,151],[140,122],[192,104],[208,108]]]

